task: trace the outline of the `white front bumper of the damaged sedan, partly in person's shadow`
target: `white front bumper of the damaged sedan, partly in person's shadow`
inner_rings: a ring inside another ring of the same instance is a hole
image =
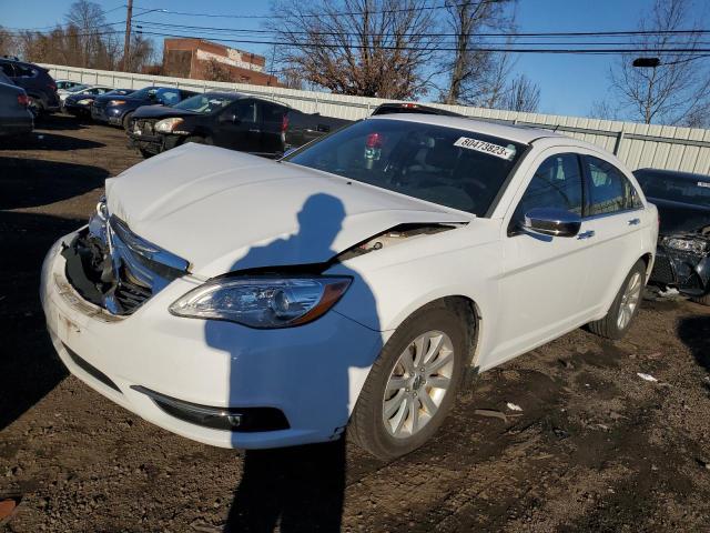
[[[223,447],[322,442],[347,424],[383,345],[379,332],[335,312],[282,330],[174,316],[169,305],[201,283],[191,276],[174,280],[130,316],[111,315],[83,300],[64,275],[60,251],[73,237],[50,250],[40,291],[59,356],[88,385],[165,430]],[[288,429],[200,425],[170,414],[145,391],[225,410],[273,408]]]

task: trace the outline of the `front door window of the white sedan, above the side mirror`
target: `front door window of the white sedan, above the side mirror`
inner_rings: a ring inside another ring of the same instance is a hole
[[[578,155],[550,155],[532,175],[510,219],[508,233],[515,233],[523,225],[525,213],[530,209],[556,208],[581,217],[582,203],[582,179]]]

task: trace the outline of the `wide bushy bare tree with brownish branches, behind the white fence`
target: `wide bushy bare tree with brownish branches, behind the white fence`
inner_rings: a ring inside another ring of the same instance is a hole
[[[408,99],[426,93],[436,52],[426,0],[276,0],[267,24],[285,46],[278,63],[341,94]],[[430,70],[430,69],[429,69]]]

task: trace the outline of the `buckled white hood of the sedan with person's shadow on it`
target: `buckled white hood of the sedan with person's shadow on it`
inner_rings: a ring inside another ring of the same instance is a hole
[[[204,278],[323,263],[406,223],[473,215],[324,172],[189,143],[106,180],[109,211]]]

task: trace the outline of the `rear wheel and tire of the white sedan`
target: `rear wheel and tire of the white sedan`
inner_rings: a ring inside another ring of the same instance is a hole
[[[629,330],[641,303],[646,263],[638,260],[623,280],[607,315],[588,324],[589,331],[605,339],[621,339]]]

